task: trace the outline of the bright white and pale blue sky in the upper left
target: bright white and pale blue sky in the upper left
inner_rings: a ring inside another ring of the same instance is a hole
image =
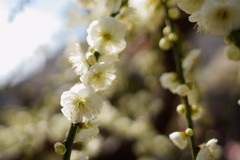
[[[0,86],[13,79],[19,66],[24,69],[14,77],[13,84],[44,66],[46,57],[39,48],[47,46],[52,53],[57,49],[53,37],[63,28],[63,11],[69,0],[31,0],[10,22],[17,3],[0,0]]]

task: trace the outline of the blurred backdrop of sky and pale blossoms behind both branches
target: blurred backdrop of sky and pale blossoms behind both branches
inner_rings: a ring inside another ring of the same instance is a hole
[[[189,148],[181,151],[168,139],[185,130],[185,120],[176,113],[179,98],[159,83],[163,72],[175,70],[171,51],[158,47],[162,10],[147,9],[127,35],[100,134],[74,146],[90,159],[190,159]],[[65,50],[73,42],[86,46],[96,16],[69,0],[0,0],[0,160],[61,159],[53,145],[64,141],[70,123],[60,112],[60,96],[79,81]],[[197,142],[215,137],[221,159],[240,160],[240,64],[224,56],[222,37],[196,33],[182,12],[176,23],[184,52],[201,49],[189,75],[196,88],[192,102],[201,107]]]

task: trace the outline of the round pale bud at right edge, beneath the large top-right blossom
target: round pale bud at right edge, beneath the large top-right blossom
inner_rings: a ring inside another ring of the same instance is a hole
[[[239,61],[240,60],[240,49],[236,46],[226,46],[224,48],[225,55],[229,60]]]

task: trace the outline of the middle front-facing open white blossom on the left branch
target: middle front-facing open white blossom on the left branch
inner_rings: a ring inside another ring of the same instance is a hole
[[[84,84],[92,86],[96,92],[106,90],[116,79],[115,72],[113,64],[96,63],[90,67],[86,74],[80,77],[80,80]]]

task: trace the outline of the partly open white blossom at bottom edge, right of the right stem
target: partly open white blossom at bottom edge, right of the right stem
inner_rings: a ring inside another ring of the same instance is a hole
[[[201,147],[196,160],[218,160],[220,158],[221,148],[217,144],[217,139],[211,139]]]

